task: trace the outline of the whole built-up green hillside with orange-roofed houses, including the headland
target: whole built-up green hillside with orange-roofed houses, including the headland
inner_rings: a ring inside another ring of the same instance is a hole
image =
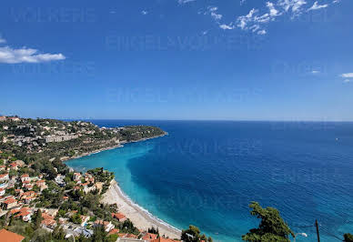
[[[100,203],[114,174],[74,171],[63,160],[163,135],[157,127],[100,128],[88,122],[0,117],[0,233],[14,241],[164,241],[115,205]]]

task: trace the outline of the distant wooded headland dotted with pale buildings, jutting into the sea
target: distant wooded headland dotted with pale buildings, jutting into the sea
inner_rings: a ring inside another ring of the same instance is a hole
[[[31,160],[61,161],[165,136],[156,126],[99,127],[86,121],[0,116],[0,140]],[[28,160],[29,162],[29,160]]]

